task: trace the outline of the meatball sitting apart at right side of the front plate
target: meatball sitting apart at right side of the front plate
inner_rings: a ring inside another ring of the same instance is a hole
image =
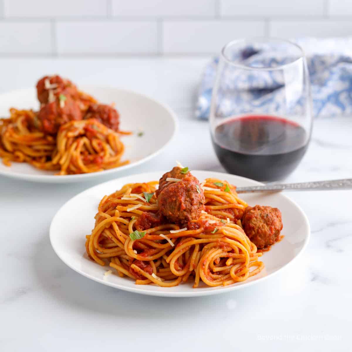
[[[281,212],[268,206],[247,207],[242,225],[249,239],[262,249],[278,240],[282,230]]]

